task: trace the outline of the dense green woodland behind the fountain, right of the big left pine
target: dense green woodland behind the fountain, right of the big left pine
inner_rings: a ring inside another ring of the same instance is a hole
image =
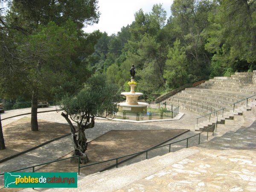
[[[103,33],[86,62],[93,73],[127,90],[163,93],[183,84],[256,69],[256,3],[251,0],[174,0],[166,20],[161,4],[140,9],[116,35]]]

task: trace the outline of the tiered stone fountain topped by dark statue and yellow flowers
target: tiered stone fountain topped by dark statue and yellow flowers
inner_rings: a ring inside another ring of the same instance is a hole
[[[138,97],[143,93],[135,92],[137,83],[134,81],[135,67],[132,65],[131,70],[131,81],[128,84],[131,87],[130,92],[122,92],[121,95],[126,96],[126,102],[118,103],[119,111],[130,111],[130,112],[147,112],[148,104],[144,102],[138,102]]]

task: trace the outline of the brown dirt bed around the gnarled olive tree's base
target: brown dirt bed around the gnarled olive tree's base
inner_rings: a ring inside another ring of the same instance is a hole
[[[112,130],[92,140],[87,147],[89,163],[97,163],[116,157],[133,154],[146,150],[155,145],[175,137],[187,130]],[[62,158],[71,157],[72,152]],[[119,159],[120,162],[122,159]],[[99,172],[116,163],[112,160],[80,169],[84,175]],[[83,166],[83,165],[81,165]],[[51,163],[37,170],[37,172],[78,172],[78,164],[70,159]]]

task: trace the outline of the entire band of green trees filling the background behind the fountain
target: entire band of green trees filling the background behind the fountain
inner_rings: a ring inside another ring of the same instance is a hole
[[[255,0],[174,0],[142,9],[117,34],[97,23],[97,0],[0,0],[0,102],[58,99],[90,76],[128,91],[169,92],[186,83],[256,70]],[[120,8],[121,9],[121,8]],[[117,15],[121,17],[122,15]]]

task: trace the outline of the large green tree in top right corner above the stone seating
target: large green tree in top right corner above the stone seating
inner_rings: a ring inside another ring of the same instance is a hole
[[[221,0],[209,15],[206,49],[214,54],[212,67],[223,75],[256,69],[256,4]],[[215,73],[216,70],[214,71]]]

